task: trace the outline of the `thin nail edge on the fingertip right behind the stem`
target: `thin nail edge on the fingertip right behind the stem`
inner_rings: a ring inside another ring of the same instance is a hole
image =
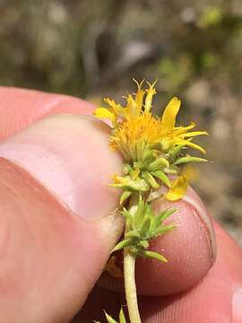
[[[200,218],[200,220],[202,221],[202,223],[204,224],[207,230],[208,237],[209,237],[212,264],[214,264],[217,257],[217,244],[216,244],[216,238],[215,238],[215,231],[212,225],[212,218],[208,214],[207,209],[204,207],[203,202],[201,201],[199,196],[195,194],[192,188],[188,189],[187,195],[183,197],[183,200],[188,205],[191,205],[193,207],[194,215]]]

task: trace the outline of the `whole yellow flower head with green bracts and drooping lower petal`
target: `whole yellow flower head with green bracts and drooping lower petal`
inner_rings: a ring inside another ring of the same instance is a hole
[[[115,100],[105,99],[108,108],[98,108],[94,112],[96,117],[111,121],[113,129],[109,139],[110,148],[122,153],[126,162],[125,177],[116,179],[113,186],[132,190],[137,187],[137,183],[143,183],[144,191],[159,188],[160,183],[163,183],[169,188],[165,197],[176,200],[186,193],[186,180],[181,177],[177,179],[178,182],[171,184],[167,175],[178,175],[177,165],[180,163],[206,161],[185,155],[183,151],[190,147],[205,153],[200,145],[194,144],[194,137],[207,135],[207,132],[191,131],[195,127],[194,123],[186,127],[176,126],[181,106],[177,97],[169,101],[161,118],[154,116],[151,110],[156,82],[147,83],[144,89],[144,82],[135,83],[137,92],[127,95],[124,107]],[[134,173],[137,174],[135,179]],[[179,193],[175,194],[177,190]]]

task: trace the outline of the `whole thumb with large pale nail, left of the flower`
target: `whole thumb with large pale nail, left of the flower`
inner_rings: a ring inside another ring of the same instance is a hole
[[[107,130],[58,115],[0,145],[1,321],[66,322],[99,278],[123,226]]]

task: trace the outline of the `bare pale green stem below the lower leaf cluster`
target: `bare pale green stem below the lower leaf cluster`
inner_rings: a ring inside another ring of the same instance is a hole
[[[127,301],[129,319],[131,323],[141,323],[141,317],[138,308],[137,292],[135,285],[135,257],[125,248],[124,251],[124,272],[125,272],[125,296]]]

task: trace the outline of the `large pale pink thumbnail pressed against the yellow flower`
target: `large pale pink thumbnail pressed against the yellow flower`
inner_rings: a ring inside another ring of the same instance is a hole
[[[108,184],[121,170],[107,127],[91,117],[46,118],[0,144],[0,156],[28,170],[76,214],[102,218],[117,207],[119,192]]]

